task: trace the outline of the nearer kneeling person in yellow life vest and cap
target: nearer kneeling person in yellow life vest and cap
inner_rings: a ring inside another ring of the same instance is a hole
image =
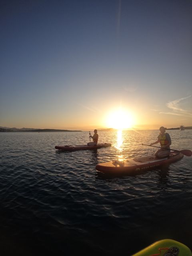
[[[165,132],[166,128],[161,126],[159,130],[160,130],[160,134],[157,137],[157,141],[154,143],[151,143],[150,146],[160,143],[161,148],[157,150],[157,152],[155,153],[155,156],[158,158],[164,158],[170,155],[171,138],[170,138],[170,135],[167,132]]]

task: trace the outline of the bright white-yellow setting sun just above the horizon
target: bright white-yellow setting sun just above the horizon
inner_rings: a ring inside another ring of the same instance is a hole
[[[112,111],[106,117],[106,126],[118,130],[128,129],[134,125],[134,117],[126,110]]]

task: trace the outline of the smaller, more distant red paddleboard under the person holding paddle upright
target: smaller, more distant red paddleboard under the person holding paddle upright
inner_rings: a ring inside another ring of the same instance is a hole
[[[64,151],[74,151],[74,150],[89,150],[89,149],[96,149],[96,148],[106,148],[110,147],[110,143],[100,143],[96,146],[88,146],[88,145],[66,145],[66,146],[55,146],[56,149],[64,150]]]

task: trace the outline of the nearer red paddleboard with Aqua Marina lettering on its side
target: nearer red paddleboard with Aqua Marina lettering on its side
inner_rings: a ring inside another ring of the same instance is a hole
[[[169,157],[156,158],[156,156],[142,156],[123,161],[110,161],[96,165],[96,170],[106,174],[137,174],[145,170],[153,170],[164,165],[169,165],[183,158],[178,152],[170,153]]]

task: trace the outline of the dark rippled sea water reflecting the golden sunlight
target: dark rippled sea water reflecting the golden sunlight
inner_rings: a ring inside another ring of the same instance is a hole
[[[192,130],[170,130],[192,150]],[[192,157],[137,176],[96,164],[153,154],[158,130],[99,132],[112,147],[62,152],[88,132],[0,133],[0,255],[131,255],[164,238],[192,249]]]

